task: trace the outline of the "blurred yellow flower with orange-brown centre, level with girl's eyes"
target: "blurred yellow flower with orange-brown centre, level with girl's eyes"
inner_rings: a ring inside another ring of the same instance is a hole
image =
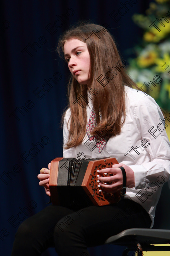
[[[143,67],[148,67],[155,64],[155,60],[157,56],[158,56],[157,53],[154,51],[145,52],[143,55],[137,58],[138,66],[143,68]]]

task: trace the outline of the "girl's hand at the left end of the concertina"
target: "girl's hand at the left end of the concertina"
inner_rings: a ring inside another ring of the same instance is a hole
[[[42,168],[40,170],[40,174],[38,174],[38,179],[40,180],[39,186],[43,186],[45,188],[46,194],[50,197],[50,191],[49,191],[49,174],[50,174],[50,167],[51,163],[48,164],[47,168]]]

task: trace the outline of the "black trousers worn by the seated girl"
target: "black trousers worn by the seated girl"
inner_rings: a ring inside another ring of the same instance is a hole
[[[88,256],[87,247],[102,245],[124,229],[150,225],[148,213],[130,199],[77,211],[50,205],[22,222],[11,256],[38,256],[48,247],[60,256]]]

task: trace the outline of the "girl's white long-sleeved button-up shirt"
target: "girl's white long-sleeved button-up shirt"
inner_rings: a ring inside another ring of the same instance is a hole
[[[114,157],[119,163],[130,166],[134,171],[135,187],[127,188],[125,198],[143,206],[151,217],[152,227],[161,188],[169,180],[170,174],[170,144],[165,131],[168,120],[164,121],[159,106],[149,95],[128,86],[124,86],[124,89],[126,119],[120,135],[109,138],[99,153],[95,140],[90,141],[86,134],[81,145],[63,149],[63,157]],[[93,110],[92,100],[88,98],[88,101],[87,120]],[[70,108],[64,118],[63,147],[68,141],[69,117]],[[109,126],[106,128],[110,129]]]

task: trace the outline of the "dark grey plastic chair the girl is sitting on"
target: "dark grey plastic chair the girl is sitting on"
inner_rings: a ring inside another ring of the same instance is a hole
[[[126,229],[115,236],[109,237],[105,244],[126,246],[127,248],[122,256],[127,256],[130,251],[136,251],[138,256],[142,256],[143,251],[170,251],[170,246],[153,245],[170,244],[169,188],[170,184],[168,187],[168,182],[162,187],[152,229]]]

